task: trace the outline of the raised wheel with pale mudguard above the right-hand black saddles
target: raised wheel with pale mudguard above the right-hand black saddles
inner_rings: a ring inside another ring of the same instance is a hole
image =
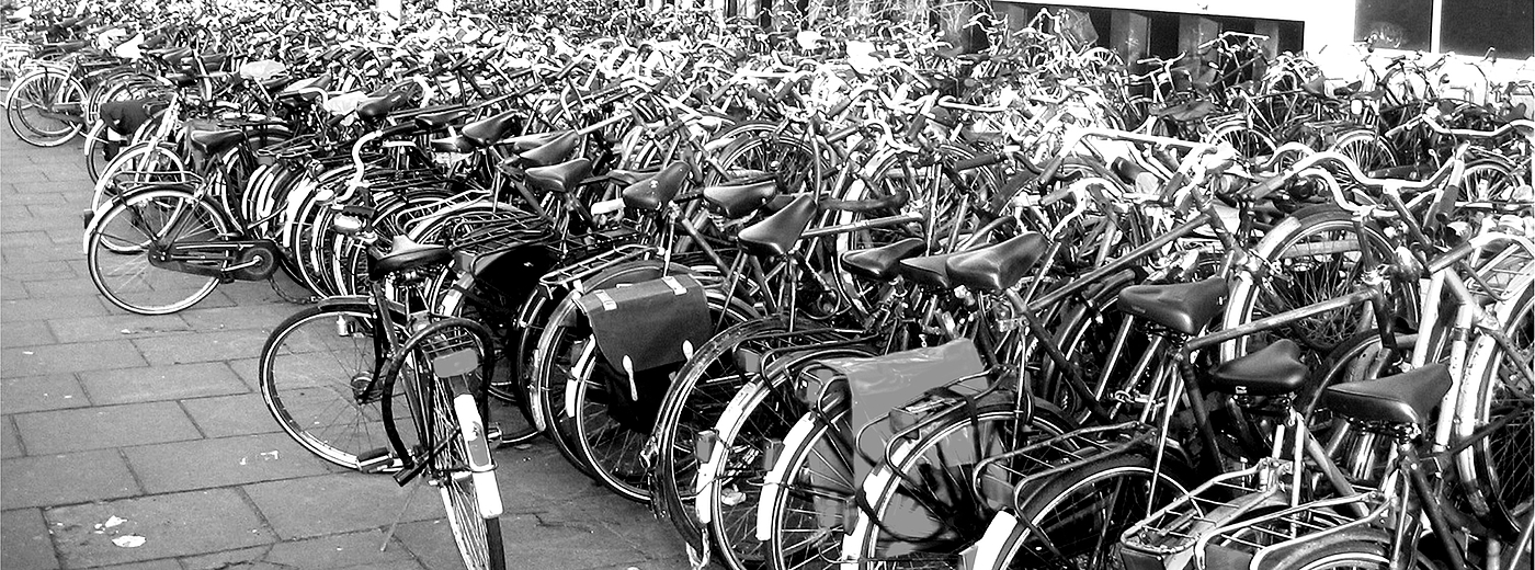
[[[1366,224],[1365,243],[1377,260],[1392,258],[1391,241]],[[1339,298],[1354,292],[1363,264],[1360,235],[1349,214],[1334,206],[1312,206],[1285,218],[1259,241],[1253,255],[1265,261],[1266,275],[1254,280],[1239,273],[1231,286],[1222,324],[1233,329],[1265,316]],[[1397,290],[1398,307],[1415,307],[1415,295]],[[1283,327],[1242,336],[1220,346],[1220,361],[1231,361],[1280,338],[1300,344],[1303,358],[1315,364],[1357,332],[1375,327],[1368,304],[1354,304]]]

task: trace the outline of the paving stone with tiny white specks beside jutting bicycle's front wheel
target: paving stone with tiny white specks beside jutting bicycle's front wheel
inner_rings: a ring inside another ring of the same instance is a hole
[[[129,447],[123,453],[149,493],[327,473],[322,459],[299,447],[287,433],[178,441]]]

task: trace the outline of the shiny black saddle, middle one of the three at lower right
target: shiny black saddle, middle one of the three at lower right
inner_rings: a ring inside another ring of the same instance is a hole
[[[1328,386],[1319,406],[1352,419],[1423,426],[1451,384],[1449,367],[1434,363],[1380,379]]]

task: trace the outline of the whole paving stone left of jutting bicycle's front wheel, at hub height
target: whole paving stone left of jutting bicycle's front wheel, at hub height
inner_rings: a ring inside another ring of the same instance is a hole
[[[81,372],[80,383],[95,404],[220,396],[250,392],[224,363],[150,366]]]

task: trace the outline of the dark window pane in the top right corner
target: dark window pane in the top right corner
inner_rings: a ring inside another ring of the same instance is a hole
[[[1481,55],[1487,48],[1497,48],[1498,57],[1535,52],[1535,3],[1444,0],[1440,51]]]

